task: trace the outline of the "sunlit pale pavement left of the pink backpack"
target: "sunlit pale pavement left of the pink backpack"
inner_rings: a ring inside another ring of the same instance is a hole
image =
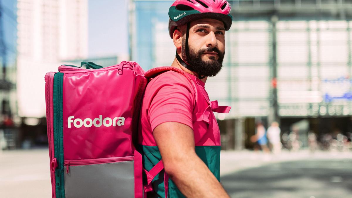
[[[6,198],[49,198],[49,151],[11,150],[0,154],[0,192]]]

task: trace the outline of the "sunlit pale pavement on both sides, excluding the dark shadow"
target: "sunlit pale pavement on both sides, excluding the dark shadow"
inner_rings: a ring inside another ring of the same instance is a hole
[[[249,150],[221,151],[220,175],[259,167],[269,163],[306,159],[351,159],[352,152],[308,150],[296,153],[283,151],[268,155]],[[11,150],[0,153],[0,192],[6,198],[51,197],[49,151],[47,149]]]

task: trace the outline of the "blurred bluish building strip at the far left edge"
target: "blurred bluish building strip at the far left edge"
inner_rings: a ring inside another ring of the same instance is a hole
[[[0,150],[15,146],[16,10],[16,1],[0,0]]]

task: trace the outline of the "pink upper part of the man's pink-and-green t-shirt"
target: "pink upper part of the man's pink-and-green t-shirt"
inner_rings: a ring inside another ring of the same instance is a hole
[[[205,83],[187,75],[193,80],[196,92],[187,78],[174,71],[150,80],[141,107],[139,144],[156,146],[152,134],[156,126],[179,122],[193,129],[195,146],[220,146],[219,126],[209,105]]]

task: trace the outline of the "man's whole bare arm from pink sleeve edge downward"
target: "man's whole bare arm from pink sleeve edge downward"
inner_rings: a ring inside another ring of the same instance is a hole
[[[153,130],[166,173],[186,197],[229,197],[195,153],[192,128],[165,122]]]

